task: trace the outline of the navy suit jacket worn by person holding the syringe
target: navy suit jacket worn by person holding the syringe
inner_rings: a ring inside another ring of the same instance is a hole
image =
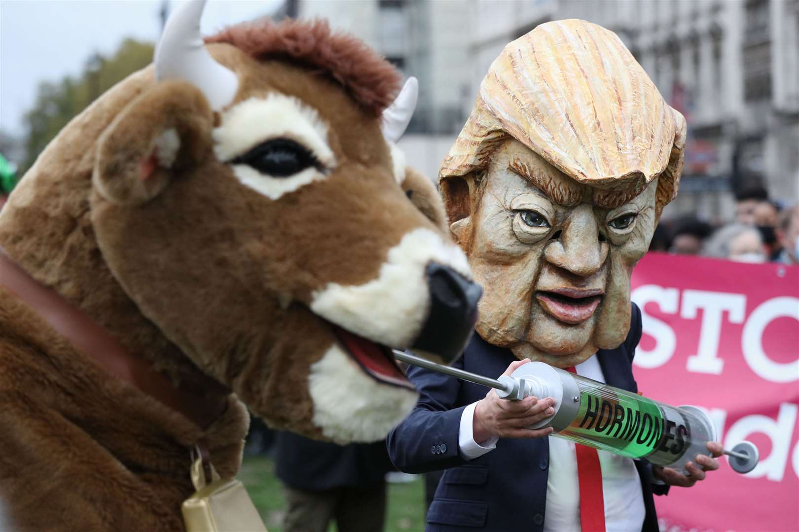
[[[600,349],[599,365],[607,384],[638,392],[632,372],[635,346],[641,339],[641,311],[633,305],[630,333],[616,349]],[[475,334],[453,366],[484,376],[501,375],[512,361],[508,349],[488,344]],[[412,367],[407,372],[421,394],[411,415],[388,436],[388,454],[402,471],[447,469],[427,511],[428,532],[543,530],[547,505],[549,439],[499,439],[495,450],[474,460],[459,453],[460,417],[487,389],[455,377]],[[651,466],[636,461],[646,518],[643,530],[658,530]]]

